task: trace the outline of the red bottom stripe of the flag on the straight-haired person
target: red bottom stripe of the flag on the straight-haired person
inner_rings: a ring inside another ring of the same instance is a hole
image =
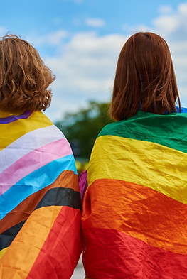
[[[187,278],[187,256],[150,246],[116,230],[85,229],[84,233],[83,263],[88,278]]]

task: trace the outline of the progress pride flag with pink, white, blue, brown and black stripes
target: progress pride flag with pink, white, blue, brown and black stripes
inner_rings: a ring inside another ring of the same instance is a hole
[[[70,278],[81,252],[80,206],[63,133],[41,111],[0,111],[0,278]]]

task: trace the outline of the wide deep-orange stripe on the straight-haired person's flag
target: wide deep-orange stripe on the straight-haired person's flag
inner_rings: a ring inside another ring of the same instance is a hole
[[[149,187],[96,180],[82,206],[83,229],[116,229],[146,244],[187,254],[187,206]]]

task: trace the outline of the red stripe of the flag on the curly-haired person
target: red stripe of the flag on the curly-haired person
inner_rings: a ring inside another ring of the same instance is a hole
[[[80,210],[62,207],[26,278],[70,278],[80,257],[81,242]]]

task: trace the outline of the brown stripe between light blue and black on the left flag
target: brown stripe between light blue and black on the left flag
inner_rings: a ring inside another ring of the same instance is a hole
[[[6,216],[0,221],[0,234],[11,228],[11,226],[15,226],[23,220],[26,220],[29,215],[36,208],[38,202],[41,201],[46,192],[50,189],[63,187],[70,188],[75,191],[80,192],[78,185],[78,175],[75,175],[70,170],[65,170],[61,173],[53,184],[49,185],[46,188],[41,189],[38,192],[33,193],[23,200],[17,207],[15,207],[11,212],[6,214]]]

